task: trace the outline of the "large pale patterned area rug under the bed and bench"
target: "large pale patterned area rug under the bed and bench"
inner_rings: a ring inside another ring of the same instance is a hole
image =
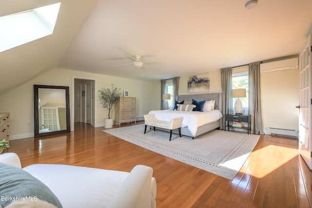
[[[253,151],[259,135],[213,130],[195,139],[148,129],[144,124],[103,130],[125,141],[233,180]]]

